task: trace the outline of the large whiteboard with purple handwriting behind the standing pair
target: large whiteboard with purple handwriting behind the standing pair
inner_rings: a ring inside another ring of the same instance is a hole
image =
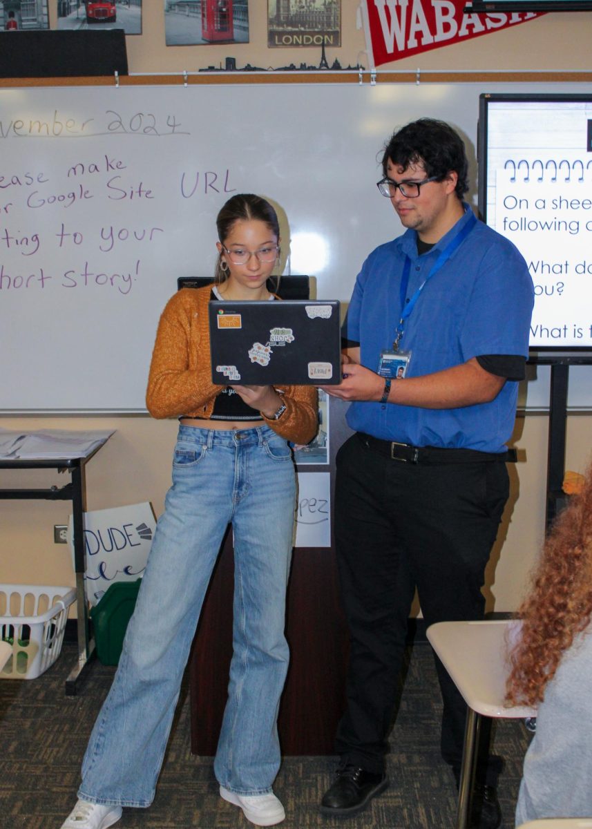
[[[577,91],[577,84],[545,90]],[[209,276],[216,213],[273,201],[282,269],[347,303],[363,259],[399,235],[379,195],[393,128],[449,121],[474,157],[478,95],[533,84],[192,85],[0,90],[0,410],[143,412],[158,316],[179,276]],[[526,405],[548,404],[548,367]],[[574,372],[570,406],[592,405]]]

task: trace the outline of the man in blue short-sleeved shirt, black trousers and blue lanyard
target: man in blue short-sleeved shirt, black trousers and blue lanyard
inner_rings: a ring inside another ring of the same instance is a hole
[[[533,287],[522,255],[463,202],[467,171],[448,124],[420,119],[392,135],[378,189],[407,230],[363,264],[344,324],[343,381],[325,387],[351,401],[356,433],[337,453],[351,654],[325,814],[355,814],[388,786],[386,737],[415,588],[426,625],[483,618]],[[442,756],[458,785],[466,707],[436,662]],[[487,756],[478,764],[474,827],[500,825],[498,771]]]

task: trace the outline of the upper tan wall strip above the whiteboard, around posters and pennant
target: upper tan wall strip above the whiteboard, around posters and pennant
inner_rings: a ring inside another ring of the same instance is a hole
[[[342,46],[329,49],[329,65],[368,66],[366,42],[357,29],[358,0],[342,0]],[[50,0],[51,27],[56,27],[57,2]],[[224,65],[226,56],[264,68],[318,65],[314,48],[267,48],[267,2],[250,0],[250,43],[224,46],[165,46],[163,0],[143,0],[143,34],[128,36],[129,71],[190,72],[209,65]],[[555,12],[502,32],[476,37],[458,46],[444,46],[405,61],[381,66],[385,70],[590,70],[590,12]]]

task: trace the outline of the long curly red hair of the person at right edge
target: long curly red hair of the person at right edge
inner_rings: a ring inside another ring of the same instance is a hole
[[[592,616],[592,464],[582,491],[571,497],[546,538],[517,616],[522,634],[509,657],[506,700],[536,705]]]

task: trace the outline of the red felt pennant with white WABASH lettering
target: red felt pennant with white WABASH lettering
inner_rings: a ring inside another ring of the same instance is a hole
[[[363,0],[363,4],[366,41],[370,39],[366,48],[373,66],[541,17],[541,12],[463,14],[468,0]]]

